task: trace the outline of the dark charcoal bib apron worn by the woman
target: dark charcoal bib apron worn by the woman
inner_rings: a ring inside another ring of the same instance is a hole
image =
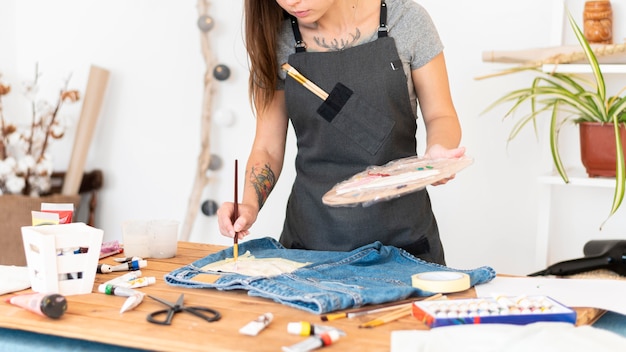
[[[291,78],[287,113],[297,136],[296,178],[280,242],[287,248],[349,251],[380,241],[445,264],[426,190],[367,207],[330,207],[322,196],[370,165],[416,155],[416,112],[381,1],[378,38],[342,51],[306,52],[292,18],[288,62],[330,92],[320,98]]]

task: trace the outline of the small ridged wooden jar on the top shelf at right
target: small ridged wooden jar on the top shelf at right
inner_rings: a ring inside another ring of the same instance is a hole
[[[613,9],[610,1],[585,2],[583,20],[585,38],[589,43],[613,43]]]

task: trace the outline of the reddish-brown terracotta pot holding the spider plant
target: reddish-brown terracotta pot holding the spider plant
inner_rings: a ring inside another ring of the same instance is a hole
[[[612,123],[583,122],[580,157],[589,177],[615,177],[615,133]],[[620,126],[622,150],[626,154],[626,125]]]

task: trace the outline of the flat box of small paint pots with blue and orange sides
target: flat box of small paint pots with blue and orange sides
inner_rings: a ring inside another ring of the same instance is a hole
[[[415,302],[415,318],[431,328],[461,324],[576,323],[576,312],[547,296],[470,298]]]

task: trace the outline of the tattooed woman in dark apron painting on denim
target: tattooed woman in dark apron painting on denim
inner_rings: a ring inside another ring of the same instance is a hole
[[[413,0],[246,0],[244,6],[256,136],[239,217],[233,221],[233,204],[224,203],[220,232],[248,235],[282,170],[291,120],[298,154],[280,237],[285,247],[349,251],[380,241],[445,264],[426,190],[368,207],[322,203],[336,183],[366,167],[416,155],[418,100],[425,156],[464,154],[443,46],[426,11]],[[286,77],[285,62],[339,107],[328,109]]]

